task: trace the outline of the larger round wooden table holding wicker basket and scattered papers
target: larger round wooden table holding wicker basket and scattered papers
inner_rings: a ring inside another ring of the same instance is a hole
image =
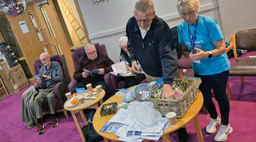
[[[103,104],[108,104],[111,102],[117,102],[118,104],[122,103],[123,98],[119,96],[112,96],[109,98],[107,101],[105,101]],[[201,110],[203,106],[203,95],[201,91],[198,90],[198,97],[195,99],[195,101],[192,103],[191,107],[186,111],[182,119],[177,120],[177,125],[176,126],[169,126],[166,131],[163,133],[163,142],[171,142],[169,134],[172,133],[173,131],[183,127],[187,123],[189,123],[191,120],[194,122],[195,130],[196,130],[196,135],[198,137],[199,142],[204,142],[204,137],[202,135],[201,127],[199,124],[198,120],[198,113]],[[93,127],[96,130],[99,135],[104,137],[105,142],[111,142],[111,140],[119,141],[118,138],[119,136],[116,136],[114,133],[102,133],[99,132],[99,130],[105,125],[106,122],[108,122],[113,116],[108,115],[108,116],[101,116],[100,115],[100,110],[102,108],[102,105],[99,107],[99,109],[96,111],[94,117],[93,117]],[[145,139],[146,140],[146,139]],[[147,142],[151,142],[151,140],[147,140]]]

